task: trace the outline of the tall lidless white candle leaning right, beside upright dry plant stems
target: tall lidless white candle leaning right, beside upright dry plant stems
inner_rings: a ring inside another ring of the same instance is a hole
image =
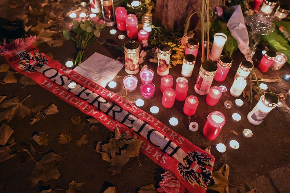
[[[218,61],[220,55],[222,55],[222,49],[224,49],[224,44],[228,37],[223,33],[216,33],[213,36],[213,45],[211,47],[211,53],[209,54],[209,59],[212,61]]]

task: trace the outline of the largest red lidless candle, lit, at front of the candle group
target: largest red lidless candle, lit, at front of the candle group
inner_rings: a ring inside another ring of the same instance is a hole
[[[224,114],[220,111],[211,112],[203,127],[204,138],[207,140],[214,140],[217,138],[225,123],[226,119],[224,118]]]

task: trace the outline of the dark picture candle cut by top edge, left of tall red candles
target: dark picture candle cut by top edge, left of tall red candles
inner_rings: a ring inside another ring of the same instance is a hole
[[[107,23],[107,26],[115,25],[114,17],[114,3],[113,0],[101,0],[103,17],[104,21]]]

